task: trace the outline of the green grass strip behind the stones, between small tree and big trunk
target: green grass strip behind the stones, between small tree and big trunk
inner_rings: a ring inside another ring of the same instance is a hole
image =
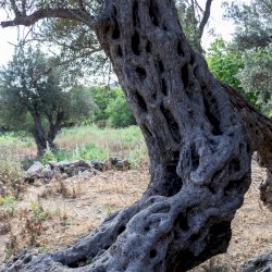
[[[104,160],[109,157],[126,158],[132,166],[147,162],[147,149],[137,126],[126,128],[98,128],[95,125],[63,129],[55,139],[60,150],[53,160]],[[52,160],[51,153],[46,154]]]

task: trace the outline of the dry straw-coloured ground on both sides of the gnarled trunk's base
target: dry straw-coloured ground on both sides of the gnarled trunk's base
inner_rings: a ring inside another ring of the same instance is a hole
[[[252,165],[252,185],[233,221],[227,252],[194,269],[195,272],[237,271],[245,260],[272,250],[272,212],[258,200],[258,187],[265,172],[255,161]],[[144,169],[27,185],[14,213],[7,215],[3,209],[0,213],[0,269],[4,259],[23,248],[37,252],[55,250],[92,231],[114,210],[139,198],[148,180]]]

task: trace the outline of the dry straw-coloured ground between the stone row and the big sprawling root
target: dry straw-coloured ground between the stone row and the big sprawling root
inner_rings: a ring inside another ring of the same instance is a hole
[[[72,243],[95,230],[116,209],[132,205],[148,180],[147,172],[109,171],[95,176],[55,180],[48,185],[29,185],[17,202],[14,215],[1,221],[9,225],[0,233],[5,245],[5,249],[0,248],[0,260],[11,258],[23,248],[53,250]],[[41,215],[36,217],[44,218],[45,212],[49,215],[45,220],[33,218],[30,202],[41,207],[37,209]]]

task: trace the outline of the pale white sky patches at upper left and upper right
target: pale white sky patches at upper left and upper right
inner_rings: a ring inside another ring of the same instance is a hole
[[[244,0],[245,1],[245,0]],[[250,0],[246,0],[248,2]],[[200,5],[205,5],[206,0],[199,0]],[[232,33],[234,32],[235,26],[231,21],[223,18],[223,0],[213,0],[211,7],[211,16],[209,21],[209,27],[214,28],[217,35],[221,35],[225,40],[231,40]],[[237,1],[236,1],[237,2]],[[5,13],[0,11],[0,21],[5,20]],[[215,39],[213,36],[209,35],[206,28],[202,46],[208,48],[209,45]],[[17,44],[18,37],[22,34],[26,34],[27,28],[25,27],[0,27],[0,65],[4,65],[12,58],[14,45]]]

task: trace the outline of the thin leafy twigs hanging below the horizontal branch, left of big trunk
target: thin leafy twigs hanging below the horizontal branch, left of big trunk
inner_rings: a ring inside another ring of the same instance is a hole
[[[91,84],[94,79],[101,84],[110,74],[109,60],[95,34],[81,22],[65,18],[42,21],[29,39],[53,49],[54,65],[69,71],[71,82],[92,75]]]

